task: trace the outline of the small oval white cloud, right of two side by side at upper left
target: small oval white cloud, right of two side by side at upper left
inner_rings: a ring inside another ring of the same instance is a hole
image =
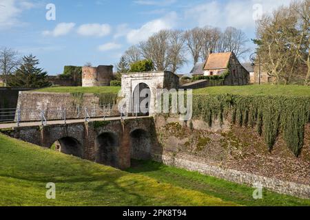
[[[87,23],[79,26],[77,32],[83,36],[106,36],[110,34],[111,27],[108,24]]]

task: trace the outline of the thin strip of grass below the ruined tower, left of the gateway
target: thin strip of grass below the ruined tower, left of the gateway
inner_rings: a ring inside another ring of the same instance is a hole
[[[121,87],[48,87],[34,91],[81,94],[117,94]]]

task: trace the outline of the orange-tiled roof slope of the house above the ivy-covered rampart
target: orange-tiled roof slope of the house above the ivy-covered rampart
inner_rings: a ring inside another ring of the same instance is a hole
[[[231,52],[210,54],[205,63],[205,70],[207,69],[226,69],[229,63]]]

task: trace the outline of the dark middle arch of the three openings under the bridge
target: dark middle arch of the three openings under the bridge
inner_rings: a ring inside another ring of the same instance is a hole
[[[118,166],[118,138],[114,133],[102,133],[96,137],[96,162],[107,166]]]

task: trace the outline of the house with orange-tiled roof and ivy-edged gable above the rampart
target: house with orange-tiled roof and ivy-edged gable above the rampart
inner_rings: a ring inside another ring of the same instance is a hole
[[[248,85],[250,81],[249,72],[241,65],[234,52],[210,54],[207,61],[196,65],[192,72],[193,76],[225,76],[223,85]]]

